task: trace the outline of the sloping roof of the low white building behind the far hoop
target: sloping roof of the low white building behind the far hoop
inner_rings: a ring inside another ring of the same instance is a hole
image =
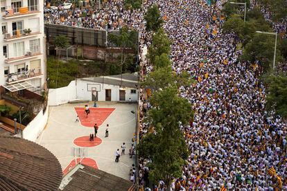
[[[87,82],[97,82],[101,84],[110,84],[114,86],[130,87],[137,89],[136,85],[138,84],[138,77],[134,73],[123,73],[119,75],[108,75],[108,76],[99,76],[95,78],[82,78],[81,80]]]

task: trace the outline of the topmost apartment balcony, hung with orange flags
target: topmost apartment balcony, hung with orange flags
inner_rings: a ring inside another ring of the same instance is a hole
[[[15,12],[17,11],[17,12]],[[26,17],[31,15],[37,15],[40,13],[39,6],[28,6],[28,7],[22,7],[18,9],[6,9],[6,14],[3,15],[3,19],[15,19],[18,17]]]

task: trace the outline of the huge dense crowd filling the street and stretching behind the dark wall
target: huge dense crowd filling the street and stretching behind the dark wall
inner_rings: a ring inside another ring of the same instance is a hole
[[[238,39],[222,33],[224,20],[211,21],[209,8],[200,0],[148,0],[143,10],[125,10],[123,1],[110,0],[101,10],[55,10],[46,23],[118,30],[128,25],[141,34],[141,80],[153,70],[146,61],[151,34],[145,31],[143,12],[156,3],[165,18],[164,29],[172,40],[173,71],[188,71],[197,82],[180,87],[180,96],[193,104],[194,120],[181,126],[191,155],[182,168],[182,177],[171,184],[173,190],[218,190],[222,185],[235,190],[287,190],[287,125],[280,116],[264,111],[266,89],[259,81],[256,63],[237,60]],[[218,2],[217,8],[221,8]],[[85,17],[82,17],[85,12]],[[286,22],[273,24],[286,33]],[[140,135],[150,131],[145,113],[150,109],[141,89]],[[146,187],[149,158],[139,158],[139,183]],[[131,171],[134,181],[134,169]],[[163,181],[156,190],[166,189]]]

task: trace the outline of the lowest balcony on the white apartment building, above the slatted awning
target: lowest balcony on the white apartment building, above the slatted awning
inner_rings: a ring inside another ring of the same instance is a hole
[[[28,71],[22,71],[20,73],[10,73],[6,82],[7,84],[15,84],[17,82],[38,78],[41,75],[43,75],[41,69],[30,69]]]

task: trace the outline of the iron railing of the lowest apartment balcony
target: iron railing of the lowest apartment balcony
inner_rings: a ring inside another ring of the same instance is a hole
[[[7,82],[16,82],[19,80],[24,80],[26,78],[33,78],[38,75],[42,75],[41,69],[30,69],[27,71],[21,71],[19,73],[10,73],[8,74]]]

